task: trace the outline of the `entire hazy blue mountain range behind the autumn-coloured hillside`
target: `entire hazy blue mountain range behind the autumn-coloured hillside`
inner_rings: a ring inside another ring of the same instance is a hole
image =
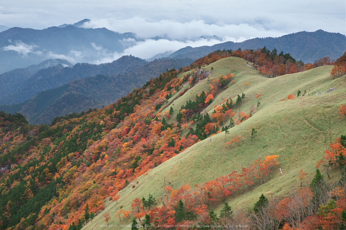
[[[304,63],[313,63],[324,56],[336,59],[346,51],[345,35],[319,30],[213,46],[188,46],[172,54],[158,54],[154,58],[160,60],[151,62],[123,56],[111,63],[94,65],[88,62],[105,57],[112,60],[115,53],[141,39],[134,33],[82,28],[87,21],[44,30],[10,28],[0,33],[0,110],[21,112],[31,124],[50,123],[55,116],[113,103],[166,69],[188,66],[215,50],[256,50],[266,46],[269,50],[276,48],[278,52],[290,53]],[[33,65],[37,63],[40,64]]]

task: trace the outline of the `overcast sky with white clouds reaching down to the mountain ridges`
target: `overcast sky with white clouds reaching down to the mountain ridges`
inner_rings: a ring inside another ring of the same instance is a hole
[[[148,39],[124,53],[149,58],[158,49],[220,43],[196,41],[202,35],[243,41],[319,29],[345,34],[345,11],[345,0],[0,0],[0,25],[44,29],[88,18],[85,28],[142,38],[165,35],[168,39]]]

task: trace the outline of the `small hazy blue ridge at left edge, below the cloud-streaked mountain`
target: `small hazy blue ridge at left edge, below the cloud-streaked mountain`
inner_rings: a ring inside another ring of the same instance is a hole
[[[72,64],[66,60],[49,59],[38,65],[31,65],[26,68],[16,68],[9,72],[0,74],[0,99],[18,90],[23,86],[25,80],[29,79],[40,69],[59,65],[61,67],[72,66]]]

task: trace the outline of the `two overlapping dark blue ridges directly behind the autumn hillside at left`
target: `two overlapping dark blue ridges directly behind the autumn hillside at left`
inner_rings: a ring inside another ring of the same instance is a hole
[[[133,56],[124,56],[108,64],[45,68],[26,80],[22,88],[1,99],[0,104],[7,100],[23,101],[22,95],[29,97],[33,92],[39,93],[21,103],[2,105],[0,111],[12,114],[20,112],[30,124],[49,124],[56,116],[114,103],[133,88],[141,87],[167,69],[188,66],[193,61],[185,58],[146,62]],[[47,87],[50,88],[46,90]]]

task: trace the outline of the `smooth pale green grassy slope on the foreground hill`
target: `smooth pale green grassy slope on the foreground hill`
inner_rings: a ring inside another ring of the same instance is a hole
[[[244,205],[252,207],[261,193],[266,197],[284,196],[299,188],[300,169],[308,172],[303,184],[309,183],[314,176],[315,163],[323,156],[325,146],[328,148],[331,141],[346,133],[346,119],[338,112],[339,106],[345,103],[346,79],[344,76],[331,80],[329,77],[331,66],[271,79],[260,76],[239,58],[222,59],[205,69],[209,70],[212,66],[214,66],[212,72],[214,79],[221,73],[230,72],[230,67],[235,67],[233,73],[237,85],[229,85],[229,88],[218,95],[212,105],[206,108],[208,112],[213,110],[214,104],[221,101],[221,97],[233,99],[241,94],[242,90],[246,94],[246,100],[240,110],[249,113],[250,106],[257,104],[256,95],[261,94],[259,110],[253,117],[232,128],[226,136],[227,141],[233,136],[242,135],[242,141],[237,146],[225,145],[225,134],[221,132],[213,137],[212,142],[206,139],[196,143],[183,153],[150,170],[148,175],[142,175],[133,181],[121,191],[118,202],[106,199],[106,209],[95,217],[93,223],[89,222],[85,229],[98,228],[98,225],[105,224],[102,214],[107,212],[111,214],[110,225],[130,224],[131,216],[119,222],[114,217],[116,212],[120,209],[129,210],[133,199],[148,197],[149,193],[156,197],[158,204],[161,204],[164,201],[160,197],[164,194],[165,181],[166,185],[170,183],[173,189],[187,183],[192,187],[194,184],[203,184],[233,170],[240,170],[242,166],[246,167],[258,160],[260,156],[280,155],[278,162],[283,176],[279,174],[278,169],[274,170],[270,181],[250,192],[229,198],[229,204],[232,207]],[[246,88],[246,82],[250,83],[250,89]],[[175,114],[187,99],[194,99],[202,90],[209,91],[209,83],[205,79],[175,100],[173,105]],[[323,93],[333,87],[337,90],[315,95],[318,91]],[[308,91],[307,96],[287,100],[287,95],[297,96],[298,90],[303,93],[305,89]],[[166,109],[169,108],[170,106]],[[252,128],[258,131],[258,136],[250,144]],[[332,174],[336,175],[337,171]],[[336,179],[336,176],[332,177],[332,180]],[[132,189],[133,184],[136,185],[134,189]]]

